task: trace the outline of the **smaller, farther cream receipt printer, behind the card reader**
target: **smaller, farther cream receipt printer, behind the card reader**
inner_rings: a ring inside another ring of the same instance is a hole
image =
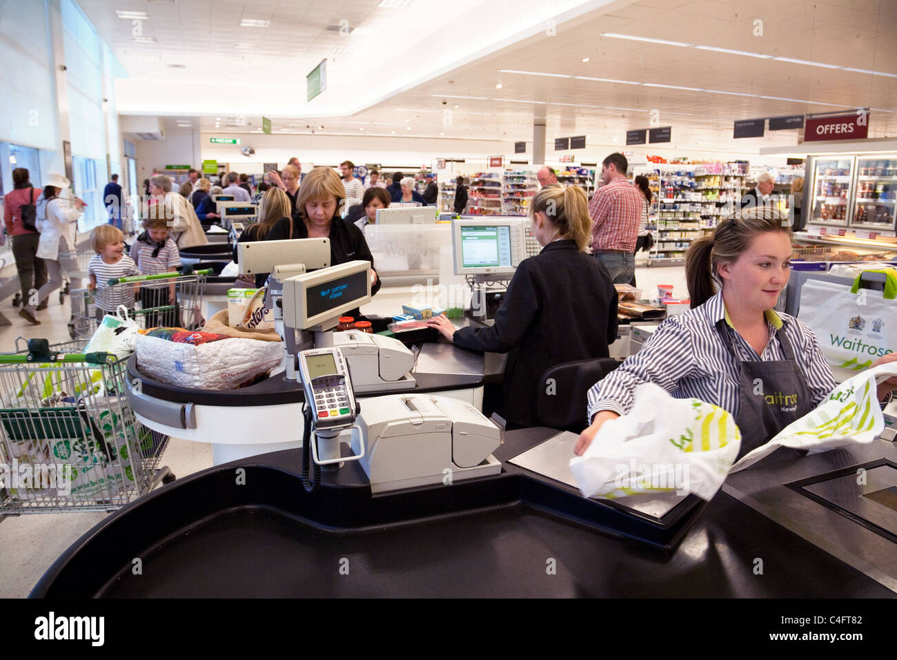
[[[398,339],[361,330],[326,334],[349,361],[355,392],[414,389],[414,355]]]

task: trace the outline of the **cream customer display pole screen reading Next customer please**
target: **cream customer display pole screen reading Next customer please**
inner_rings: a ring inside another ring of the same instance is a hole
[[[370,303],[370,261],[349,261],[283,281],[283,322],[329,330],[345,312]]]

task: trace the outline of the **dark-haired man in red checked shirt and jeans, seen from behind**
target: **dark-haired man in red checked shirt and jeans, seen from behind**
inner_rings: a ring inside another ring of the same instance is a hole
[[[614,284],[628,284],[635,275],[635,243],[639,237],[641,195],[626,179],[629,163],[610,154],[601,163],[601,180],[588,205],[592,217],[592,251],[607,268]]]

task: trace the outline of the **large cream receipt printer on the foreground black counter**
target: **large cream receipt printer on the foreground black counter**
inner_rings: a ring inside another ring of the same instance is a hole
[[[360,463],[374,493],[501,472],[492,456],[501,430],[461,400],[431,394],[375,397],[362,402],[357,425],[361,434],[353,442],[365,443]]]

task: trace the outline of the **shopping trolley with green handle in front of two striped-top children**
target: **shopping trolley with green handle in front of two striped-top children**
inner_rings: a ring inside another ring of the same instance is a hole
[[[203,295],[205,277],[213,275],[211,268],[184,273],[137,275],[109,280],[102,290],[74,289],[71,295],[72,339],[90,338],[102,320],[98,310],[117,309],[125,305],[141,328],[184,328],[199,330],[205,324]]]

